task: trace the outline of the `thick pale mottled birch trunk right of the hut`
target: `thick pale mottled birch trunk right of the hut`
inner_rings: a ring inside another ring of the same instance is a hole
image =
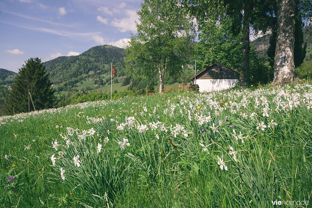
[[[274,60],[274,83],[285,83],[296,76],[294,62],[295,1],[277,1],[277,39]]]

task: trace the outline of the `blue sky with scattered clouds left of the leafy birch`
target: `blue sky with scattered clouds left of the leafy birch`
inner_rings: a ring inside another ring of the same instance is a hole
[[[135,33],[140,0],[2,0],[0,68],[79,55],[93,46],[123,46]]]

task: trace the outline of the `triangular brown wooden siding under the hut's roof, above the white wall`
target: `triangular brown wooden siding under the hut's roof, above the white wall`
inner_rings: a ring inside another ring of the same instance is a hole
[[[214,65],[196,77],[197,80],[206,79],[238,79],[233,73],[223,69],[221,66]]]

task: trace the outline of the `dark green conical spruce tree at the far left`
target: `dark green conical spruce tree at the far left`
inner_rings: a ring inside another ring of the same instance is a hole
[[[32,101],[36,110],[54,107],[56,104],[55,90],[51,89],[51,84],[49,73],[41,63],[41,59],[28,59],[25,61],[25,65],[23,64],[19,69],[12,90],[7,96],[6,114],[28,112],[28,100],[30,111],[34,110]],[[31,93],[32,101],[28,97],[28,90]]]

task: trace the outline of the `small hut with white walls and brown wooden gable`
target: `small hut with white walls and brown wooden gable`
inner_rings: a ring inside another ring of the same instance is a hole
[[[213,62],[190,78],[192,85],[198,85],[200,92],[210,92],[234,87],[239,73],[230,67]]]

